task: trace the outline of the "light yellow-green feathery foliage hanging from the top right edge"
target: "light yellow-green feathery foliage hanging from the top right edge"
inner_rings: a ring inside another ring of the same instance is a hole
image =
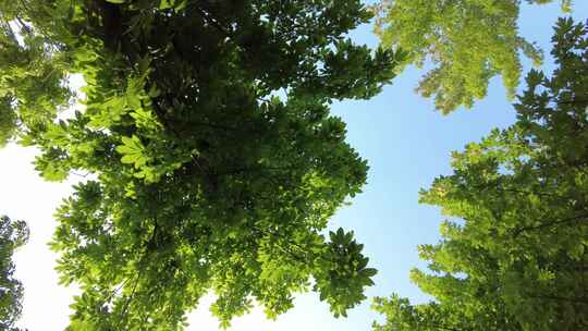
[[[553,0],[526,0],[548,3]],[[509,97],[520,77],[519,53],[538,65],[540,49],[518,35],[520,0],[383,0],[376,33],[385,47],[404,49],[405,64],[432,69],[417,91],[434,96],[438,110],[446,114],[460,106],[471,108],[486,96],[490,78],[501,75]],[[571,0],[562,0],[569,11]]]

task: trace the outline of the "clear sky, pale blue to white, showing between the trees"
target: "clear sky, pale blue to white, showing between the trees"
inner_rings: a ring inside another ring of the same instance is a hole
[[[520,33],[546,51],[543,70],[553,69],[549,56],[552,25],[561,15],[559,3],[528,5],[520,13]],[[559,1],[555,1],[559,2]],[[574,1],[573,16],[588,19],[588,0]],[[377,45],[370,26],[353,33],[355,40]],[[525,71],[528,71],[528,62]],[[488,97],[473,110],[460,109],[443,117],[432,102],[414,94],[421,72],[407,69],[391,86],[369,101],[333,105],[333,113],[347,123],[347,139],[369,161],[368,184],[353,205],[341,209],[331,222],[332,228],[354,230],[365,244],[365,254],[379,270],[376,285],[367,296],[385,296],[395,292],[415,302],[427,297],[413,285],[408,272],[425,267],[418,260],[417,245],[434,243],[439,223],[443,220],[436,208],[418,205],[418,191],[430,185],[440,174],[449,174],[450,154],[461,150],[469,142],[479,140],[493,127],[506,127],[515,113],[505,99],[500,78],[493,79]],[[54,229],[52,213],[60,200],[71,193],[69,183],[47,183],[39,179],[32,166],[36,151],[10,145],[0,150],[0,213],[26,220],[30,226],[29,243],[16,253],[16,277],[25,285],[24,310],[21,324],[32,331],[63,330],[68,326],[69,304],[75,289],[57,285],[53,271],[57,256],[47,242]],[[201,301],[191,314],[188,330],[218,330],[217,321],[208,312],[212,297]],[[296,299],[296,307],[267,321],[260,309],[237,318],[231,331],[367,331],[377,316],[369,310],[369,299],[351,311],[346,319],[335,319],[318,295],[305,294]]]

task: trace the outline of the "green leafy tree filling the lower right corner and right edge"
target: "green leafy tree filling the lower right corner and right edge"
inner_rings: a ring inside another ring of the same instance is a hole
[[[393,295],[375,330],[584,330],[588,327],[588,25],[558,22],[551,78],[531,71],[518,120],[453,156],[421,193],[454,221],[419,247],[412,279],[434,302]]]

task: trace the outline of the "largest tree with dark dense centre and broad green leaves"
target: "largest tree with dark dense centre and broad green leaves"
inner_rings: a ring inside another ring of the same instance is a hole
[[[346,38],[358,0],[14,5],[87,83],[84,111],[20,131],[45,179],[96,175],[56,213],[70,330],[181,330],[208,291],[223,327],[309,289],[334,316],[365,298],[363,245],[324,234],[367,172],[329,105],[376,95],[402,53]]]

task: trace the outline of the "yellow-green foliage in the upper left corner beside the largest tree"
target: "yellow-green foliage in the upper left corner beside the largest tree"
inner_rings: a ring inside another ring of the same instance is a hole
[[[73,97],[58,46],[23,20],[15,2],[0,3],[0,147],[54,119]]]

